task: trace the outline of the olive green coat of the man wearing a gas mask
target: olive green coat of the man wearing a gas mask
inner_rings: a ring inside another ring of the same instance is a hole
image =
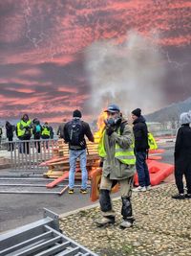
[[[115,158],[115,147],[116,142],[122,149],[128,149],[133,143],[134,136],[133,131],[130,126],[125,125],[122,134],[114,131],[111,136],[108,136],[105,132],[104,134],[104,147],[107,156],[103,159],[103,174],[104,176],[110,177],[110,179],[125,179],[135,175],[136,168],[135,165],[130,166],[121,163],[117,158]]]

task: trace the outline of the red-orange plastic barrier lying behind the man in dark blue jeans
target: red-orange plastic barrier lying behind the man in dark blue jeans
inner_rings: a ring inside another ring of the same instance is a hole
[[[152,186],[158,185],[167,176],[173,174],[174,172],[174,165],[160,163],[155,160],[147,160],[147,165]],[[134,182],[135,185],[138,186],[138,174],[134,176]]]

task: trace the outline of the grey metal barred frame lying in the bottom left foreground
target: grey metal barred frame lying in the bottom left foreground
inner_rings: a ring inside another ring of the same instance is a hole
[[[44,219],[0,235],[0,256],[97,256],[59,231],[58,215],[44,209]]]

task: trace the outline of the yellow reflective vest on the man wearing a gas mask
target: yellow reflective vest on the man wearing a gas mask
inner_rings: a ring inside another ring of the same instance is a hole
[[[102,137],[100,138],[98,144],[98,154],[101,157],[107,156],[107,153],[104,148],[104,135],[105,130],[103,131]],[[128,149],[121,149],[119,145],[116,143],[115,157],[123,164],[135,165],[136,157],[134,154],[134,145],[132,144]]]

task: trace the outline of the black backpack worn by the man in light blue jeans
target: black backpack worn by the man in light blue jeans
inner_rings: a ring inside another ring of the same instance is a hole
[[[83,141],[83,127],[82,122],[79,119],[74,119],[70,122],[68,127],[70,144],[73,146],[79,146]]]

